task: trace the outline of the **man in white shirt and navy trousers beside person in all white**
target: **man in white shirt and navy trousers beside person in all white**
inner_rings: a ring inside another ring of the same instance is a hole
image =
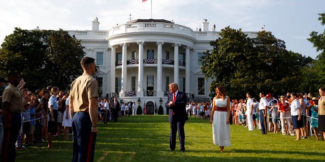
[[[267,100],[266,98],[264,97],[264,92],[261,92],[259,93],[259,97],[261,98],[261,100],[259,101],[259,104],[258,104],[258,110],[259,110],[259,122],[261,123],[261,129],[262,129],[262,134],[266,135],[268,134],[268,131],[267,131],[267,108],[268,108],[268,105],[267,105]]]

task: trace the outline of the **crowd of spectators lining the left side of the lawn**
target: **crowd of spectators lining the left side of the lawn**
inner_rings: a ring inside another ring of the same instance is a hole
[[[2,93],[8,84],[8,80],[0,77],[0,101],[2,99]],[[22,94],[23,107],[21,111],[22,126],[16,141],[16,149],[22,149],[31,146],[34,143],[39,143],[46,140],[48,141],[48,148],[53,148],[53,138],[61,136],[62,134],[64,134],[64,140],[69,141],[71,139],[69,134],[71,134],[72,127],[69,113],[70,91],[59,91],[58,87],[48,86],[32,92],[27,88],[24,88],[24,85],[25,83],[22,79],[21,84],[17,87]],[[53,101],[51,101],[52,97]],[[53,102],[55,102],[55,104],[53,104]],[[112,103],[113,102],[109,101],[107,98],[99,98],[99,123],[107,124],[107,121],[113,121],[114,113],[111,109]],[[57,107],[55,105],[57,105]],[[134,102],[121,102],[120,108],[117,109],[118,117],[135,115],[135,105],[136,104]],[[55,109],[57,109],[57,114]],[[55,113],[52,114],[51,110]],[[1,133],[3,132],[1,113],[2,104],[0,104],[0,148],[3,140],[3,134]],[[53,128],[53,126],[50,124],[51,120],[55,121],[55,128]]]

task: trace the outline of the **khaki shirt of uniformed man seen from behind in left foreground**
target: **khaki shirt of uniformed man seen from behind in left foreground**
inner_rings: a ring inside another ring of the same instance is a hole
[[[91,75],[83,73],[71,84],[70,100],[74,112],[88,111],[89,98],[98,98],[98,82]]]

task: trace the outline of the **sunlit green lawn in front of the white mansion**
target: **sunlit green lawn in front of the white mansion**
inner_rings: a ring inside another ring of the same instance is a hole
[[[99,128],[94,161],[325,161],[325,142],[315,137],[296,141],[296,136],[262,135],[261,130],[234,125],[232,146],[220,153],[208,120],[193,117],[185,124],[185,153],[169,151],[167,115],[128,116]],[[54,149],[43,142],[17,150],[16,161],[71,161],[72,141],[62,135],[53,142]]]

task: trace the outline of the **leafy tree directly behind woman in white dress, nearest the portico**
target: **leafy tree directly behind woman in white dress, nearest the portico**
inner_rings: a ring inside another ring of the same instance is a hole
[[[215,42],[210,42],[213,50],[204,53],[201,70],[207,79],[214,79],[210,85],[210,96],[213,96],[217,85],[222,85],[228,95],[239,96],[252,88],[245,81],[252,79],[249,78],[252,76],[249,74],[251,64],[247,64],[253,56],[251,39],[241,29],[235,30],[229,26],[221,29],[220,36]],[[245,75],[241,71],[248,73]]]

